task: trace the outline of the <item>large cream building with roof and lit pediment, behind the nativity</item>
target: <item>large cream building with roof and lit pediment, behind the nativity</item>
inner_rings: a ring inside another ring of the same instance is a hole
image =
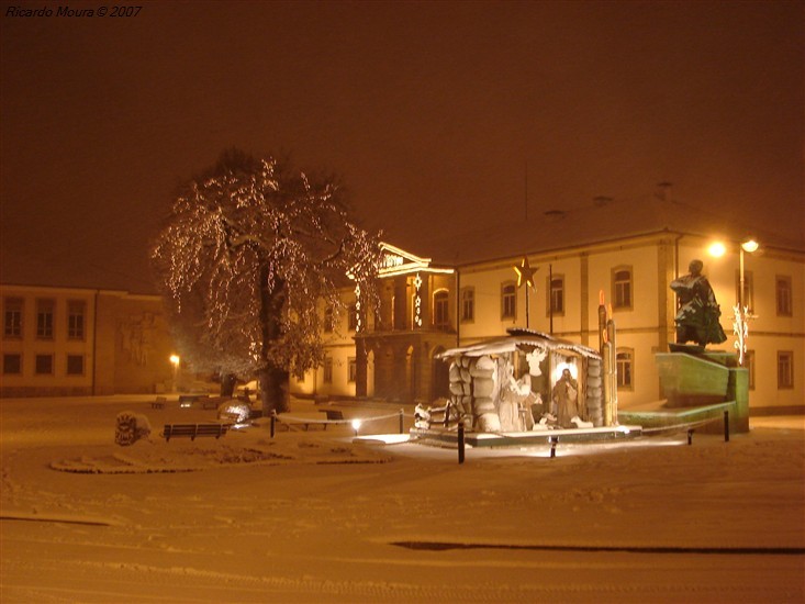
[[[668,351],[675,333],[669,284],[697,258],[729,336],[716,349],[735,350],[734,305],[743,282],[742,300],[754,315],[746,358],[751,413],[805,413],[805,250],[801,242],[756,232],[760,249],[742,253],[750,233],[658,195],[600,198],[590,208],[546,212],[465,242],[446,238],[433,255],[451,261],[438,265],[389,246],[379,313],[359,321],[362,313],[350,312],[328,336],[324,366],[291,390],[431,402],[446,394],[447,369],[436,358],[444,349],[515,326],[596,347],[603,300],[617,327],[619,406],[659,401],[655,354]],[[708,255],[715,241],[724,244],[720,257]],[[517,286],[514,267],[524,259],[536,288]],[[355,293],[344,295],[355,307]]]

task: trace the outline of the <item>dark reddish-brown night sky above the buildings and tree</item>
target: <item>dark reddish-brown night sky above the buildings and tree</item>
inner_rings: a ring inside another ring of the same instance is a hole
[[[138,3],[0,3],[3,281],[149,290],[172,191],[232,146],[342,175],[425,256],[663,180],[804,236],[803,2]]]

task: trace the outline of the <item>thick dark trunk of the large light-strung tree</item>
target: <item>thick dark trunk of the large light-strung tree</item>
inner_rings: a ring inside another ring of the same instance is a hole
[[[273,289],[268,287],[268,265],[260,268],[260,329],[262,332],[261,356],[264,368],[259,371],[260,400],[262,415],[272,411],[282,413],[289,409],[288,371],[275,367],[268,360],[272,342],[282,336],[282,306],[284,304],[284,282],[277,280]]]

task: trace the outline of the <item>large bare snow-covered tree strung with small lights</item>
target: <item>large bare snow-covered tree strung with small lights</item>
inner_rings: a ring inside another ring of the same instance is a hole
[[[182,354],[199,370],[258,377],[264,410],[284,410],[289,373],[322,363],[321,311],[344,311],[340,288],[377,303],[378,235],[343,198],[333,178],[230,150],[182,187],[153,249]]]

